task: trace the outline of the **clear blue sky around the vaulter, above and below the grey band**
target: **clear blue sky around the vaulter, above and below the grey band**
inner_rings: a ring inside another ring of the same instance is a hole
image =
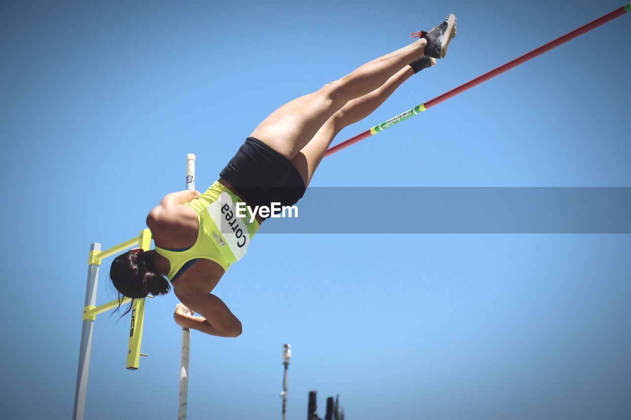
[[[447,59],[338,141],[622,1],[3,2],[3,417],[71,416],[89,245],[136,235],[182,189],[186,153],[205,189],[276,107],[447,13]],[[630,35],[618,18],[327,158],[313,185],[629,187]],[[257,235],[216,288],[243,335],[193,334],[189,418],[280,418],[283,342],[291,420],[311,389],[350,420],[628,418],[630,245]],[[86,419],[175,417],[177,300],[149,303],[138,371],[128,318],[97,318]]]

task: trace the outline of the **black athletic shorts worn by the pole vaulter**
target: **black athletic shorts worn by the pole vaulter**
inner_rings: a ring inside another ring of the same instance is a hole
[[[245,139],[219,176],[230,182],[249,206],[271,207],[273,202],[293,206],[307,189],[290,160],[254,137]]]

